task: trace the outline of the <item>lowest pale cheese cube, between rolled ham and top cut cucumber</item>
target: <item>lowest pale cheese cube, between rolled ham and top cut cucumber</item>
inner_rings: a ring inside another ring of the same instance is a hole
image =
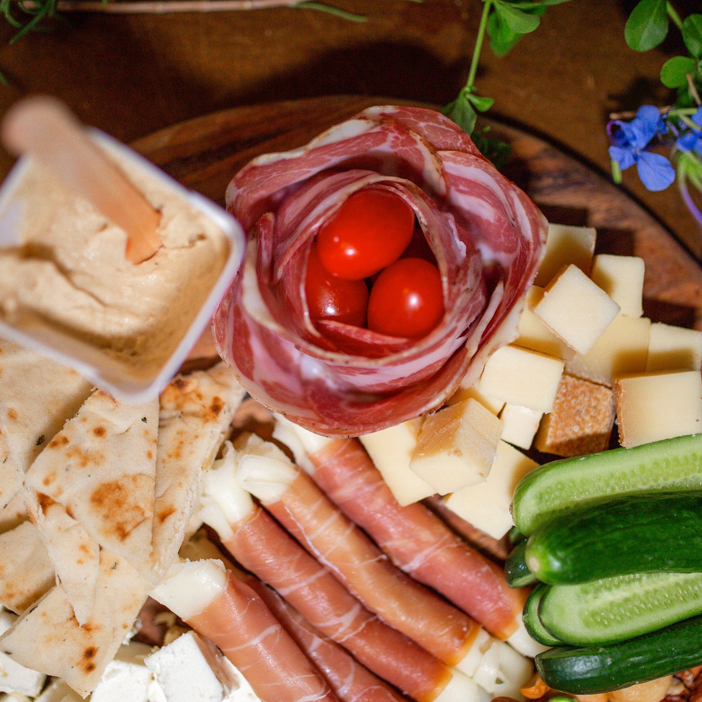
[[[502,538],[512,528],[510,503],[517,483],[538,463],[501,441],[485,482],[447,495],[444,505],[474,527],[493,538]]]

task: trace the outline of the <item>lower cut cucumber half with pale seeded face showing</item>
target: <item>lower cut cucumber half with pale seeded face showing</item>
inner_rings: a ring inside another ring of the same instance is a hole
[[[552,585],[541,625],[567,644],[611,644],[702,614],[701,573],[644,573]]]

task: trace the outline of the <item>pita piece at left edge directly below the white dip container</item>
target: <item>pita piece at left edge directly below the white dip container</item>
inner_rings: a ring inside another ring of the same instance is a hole
[[[22,472],[90,393],[76,371],[0,339],[0,431]]]

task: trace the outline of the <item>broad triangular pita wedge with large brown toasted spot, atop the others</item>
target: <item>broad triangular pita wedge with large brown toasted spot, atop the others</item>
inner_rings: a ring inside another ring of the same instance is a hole
[[[25,483],[64,505],[102,548],[143,564],[151,553],[158,425],[158,399],[132,406],[95,390]]]

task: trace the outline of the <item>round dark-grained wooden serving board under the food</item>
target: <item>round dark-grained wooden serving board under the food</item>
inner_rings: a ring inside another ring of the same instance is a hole
[[[253,157],[302,146],[329,126],[384,102],[336,95],[235,107],[167,127],[133,147],[183,185],[224,204],[227,183]],[[512,145],[505,173],[550,221],[596,227],[598,253],[645,260],[644,314],[702,329],[702,268],[670,232],[623,190],[556,147],[496,121],[484,124]]]

